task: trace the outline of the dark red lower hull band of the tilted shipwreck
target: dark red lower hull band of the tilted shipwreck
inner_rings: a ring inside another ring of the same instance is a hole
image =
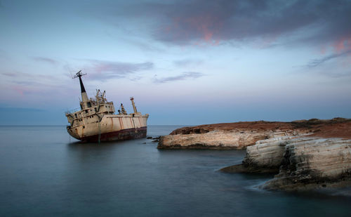
[[[138,129],[124,129],[121,131],[115,131],[110,133],[100,134],[100,141],[112,141],[112,140],[129,140],[135,138],[145,138],[147,133],[147,127],[140,127]],[[82,142],[96,143],[99,141],[99,135],[86,136],[80,138]]]

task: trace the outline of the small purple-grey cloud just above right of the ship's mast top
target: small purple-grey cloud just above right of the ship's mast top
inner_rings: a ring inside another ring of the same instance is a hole
[[[121,63],[104,60],[88,60],[88,62],[88,65],[84,67],[84,72],[87,72],[92,79],[97,80],[129,78],[131,74],[151,70],[154,67],[154,63],[151,62]],[[135,80],[138,77],[130,79]]]

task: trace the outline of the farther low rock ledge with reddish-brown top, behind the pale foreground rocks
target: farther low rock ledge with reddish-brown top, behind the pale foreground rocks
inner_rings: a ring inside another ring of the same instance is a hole
[[[351,138],[351,120],[335,118],[292,122],[251,121],[188,126],[176,129],[168,136],[162,136],[157,148],[241,150],[255,145],[258,140],[301,136],[306,133],[320,137],[349,136]]]

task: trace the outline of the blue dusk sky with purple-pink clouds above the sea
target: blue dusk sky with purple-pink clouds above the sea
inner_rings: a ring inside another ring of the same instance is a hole
[[[351,118],[351,1],[0,0],[0,125],[105,90],[148,124]]]

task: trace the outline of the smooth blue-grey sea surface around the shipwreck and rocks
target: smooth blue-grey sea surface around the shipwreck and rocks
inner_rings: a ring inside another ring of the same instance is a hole
[[[244,154],[157,150],[146,138],[77,143],[65,126],[0,126],[0,216],[351,215],[347,195],[269,192],[257,185],[272,176],[218,171]]]

